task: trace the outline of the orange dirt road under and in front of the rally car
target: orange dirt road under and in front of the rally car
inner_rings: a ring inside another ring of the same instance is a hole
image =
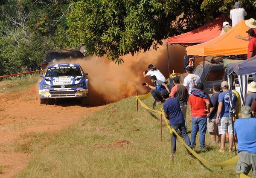
[[[21,134],[55,132],[105,106],[83,107],[76,100],[39,105],[36,87],[29,92],[0,93],[0,177],[10,178],[26,167],[32,155],[6,150]],[[20,138],[19,138],[20,139]],[[2,171],[1,171],[2,170]]]

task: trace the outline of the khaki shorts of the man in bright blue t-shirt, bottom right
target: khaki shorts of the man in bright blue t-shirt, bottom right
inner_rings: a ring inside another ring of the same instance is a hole
[[[239,152],[236,164],[236,173],[247,175],[252,169],[253,175],[256,176],[256,154],[249,152]]]

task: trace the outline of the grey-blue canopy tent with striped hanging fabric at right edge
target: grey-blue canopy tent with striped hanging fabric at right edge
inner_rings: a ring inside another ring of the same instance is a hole
[[[238,63],[227,64],[227,80],[230,91],[233,86],[234,75],[238,75],[241,106],[244,106],[247,93],[248,75],[256,73],[256,56]]]

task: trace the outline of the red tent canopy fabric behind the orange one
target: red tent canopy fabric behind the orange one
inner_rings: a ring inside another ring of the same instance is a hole
[[[221,15],[215,18],[212,22],[207,23],[198,29],[177,35],[175,37],[168,37],[166,42],[168,44],[205,43],[221,34],[222,23],[224,21],[230,20],[224,15]]]

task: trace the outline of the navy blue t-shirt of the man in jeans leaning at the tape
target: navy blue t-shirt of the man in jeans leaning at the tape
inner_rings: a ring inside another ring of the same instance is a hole
[[[180,103],[177,98],[169,98],[163,103],[163,110],[167,113],[170,125],[185,122],[182,112],[180,110]]]

